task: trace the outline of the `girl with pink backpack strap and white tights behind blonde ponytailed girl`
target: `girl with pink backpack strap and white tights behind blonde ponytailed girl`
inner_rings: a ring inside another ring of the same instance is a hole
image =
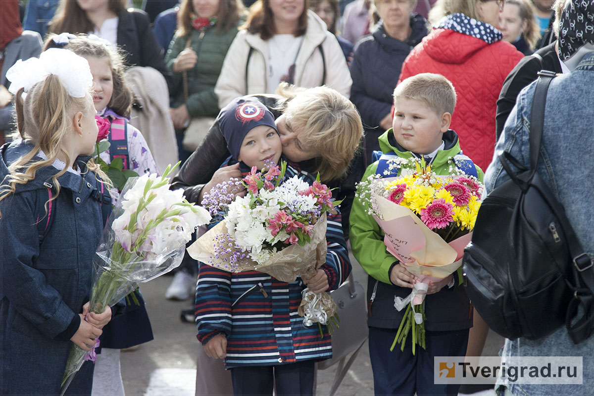
[[[143,134],[128,122],[133,94],[125,80],[121,53],[106,40],[87,34],[50,34],[46,41],[48,46],[69,49],[89,62],[94,83],[93,104],[97,110],[95,118],[102,126],[97,141],[110,142],[108,150],[99,154],[100,158],[107,164],[120,158],[123,169],[133,170],[138,175],[158,175],[157,164]],[[103,330],[94,370],[94,379],[99,381],[94,382],[93,396],[124,396],[120,350],[153,340],[140,290],[126,298],[124,314],[116,316]]]

